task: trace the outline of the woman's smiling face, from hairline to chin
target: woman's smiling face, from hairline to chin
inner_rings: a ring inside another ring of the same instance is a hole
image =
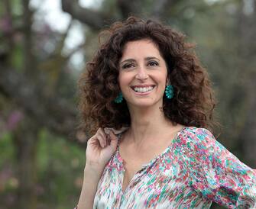
[[[162,107],[167,66],[152,40],[125,44],[119,62],[118,82],[129,108]]]

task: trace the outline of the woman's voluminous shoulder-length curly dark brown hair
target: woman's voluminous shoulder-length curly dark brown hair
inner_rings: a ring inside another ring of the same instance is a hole
[[[167,64],[167,77],[174,88],[172,99],[165,98],[162,111],[173,124],[206,127],[212,130],[215,98],[209,76],[193,52],[193,45],[171,27],[151,19],[130,17],[115,22],[102,34],[109,34],[92,62],[79,79],[79,110],[82,125],[89,131],[98,127],[119,129],[129,126],[130,114],[125,101],[114,102],[121,91],[118,62],[125,43],[148,39],[156,43]],[[99,36],[101,37],[101,36]]]

